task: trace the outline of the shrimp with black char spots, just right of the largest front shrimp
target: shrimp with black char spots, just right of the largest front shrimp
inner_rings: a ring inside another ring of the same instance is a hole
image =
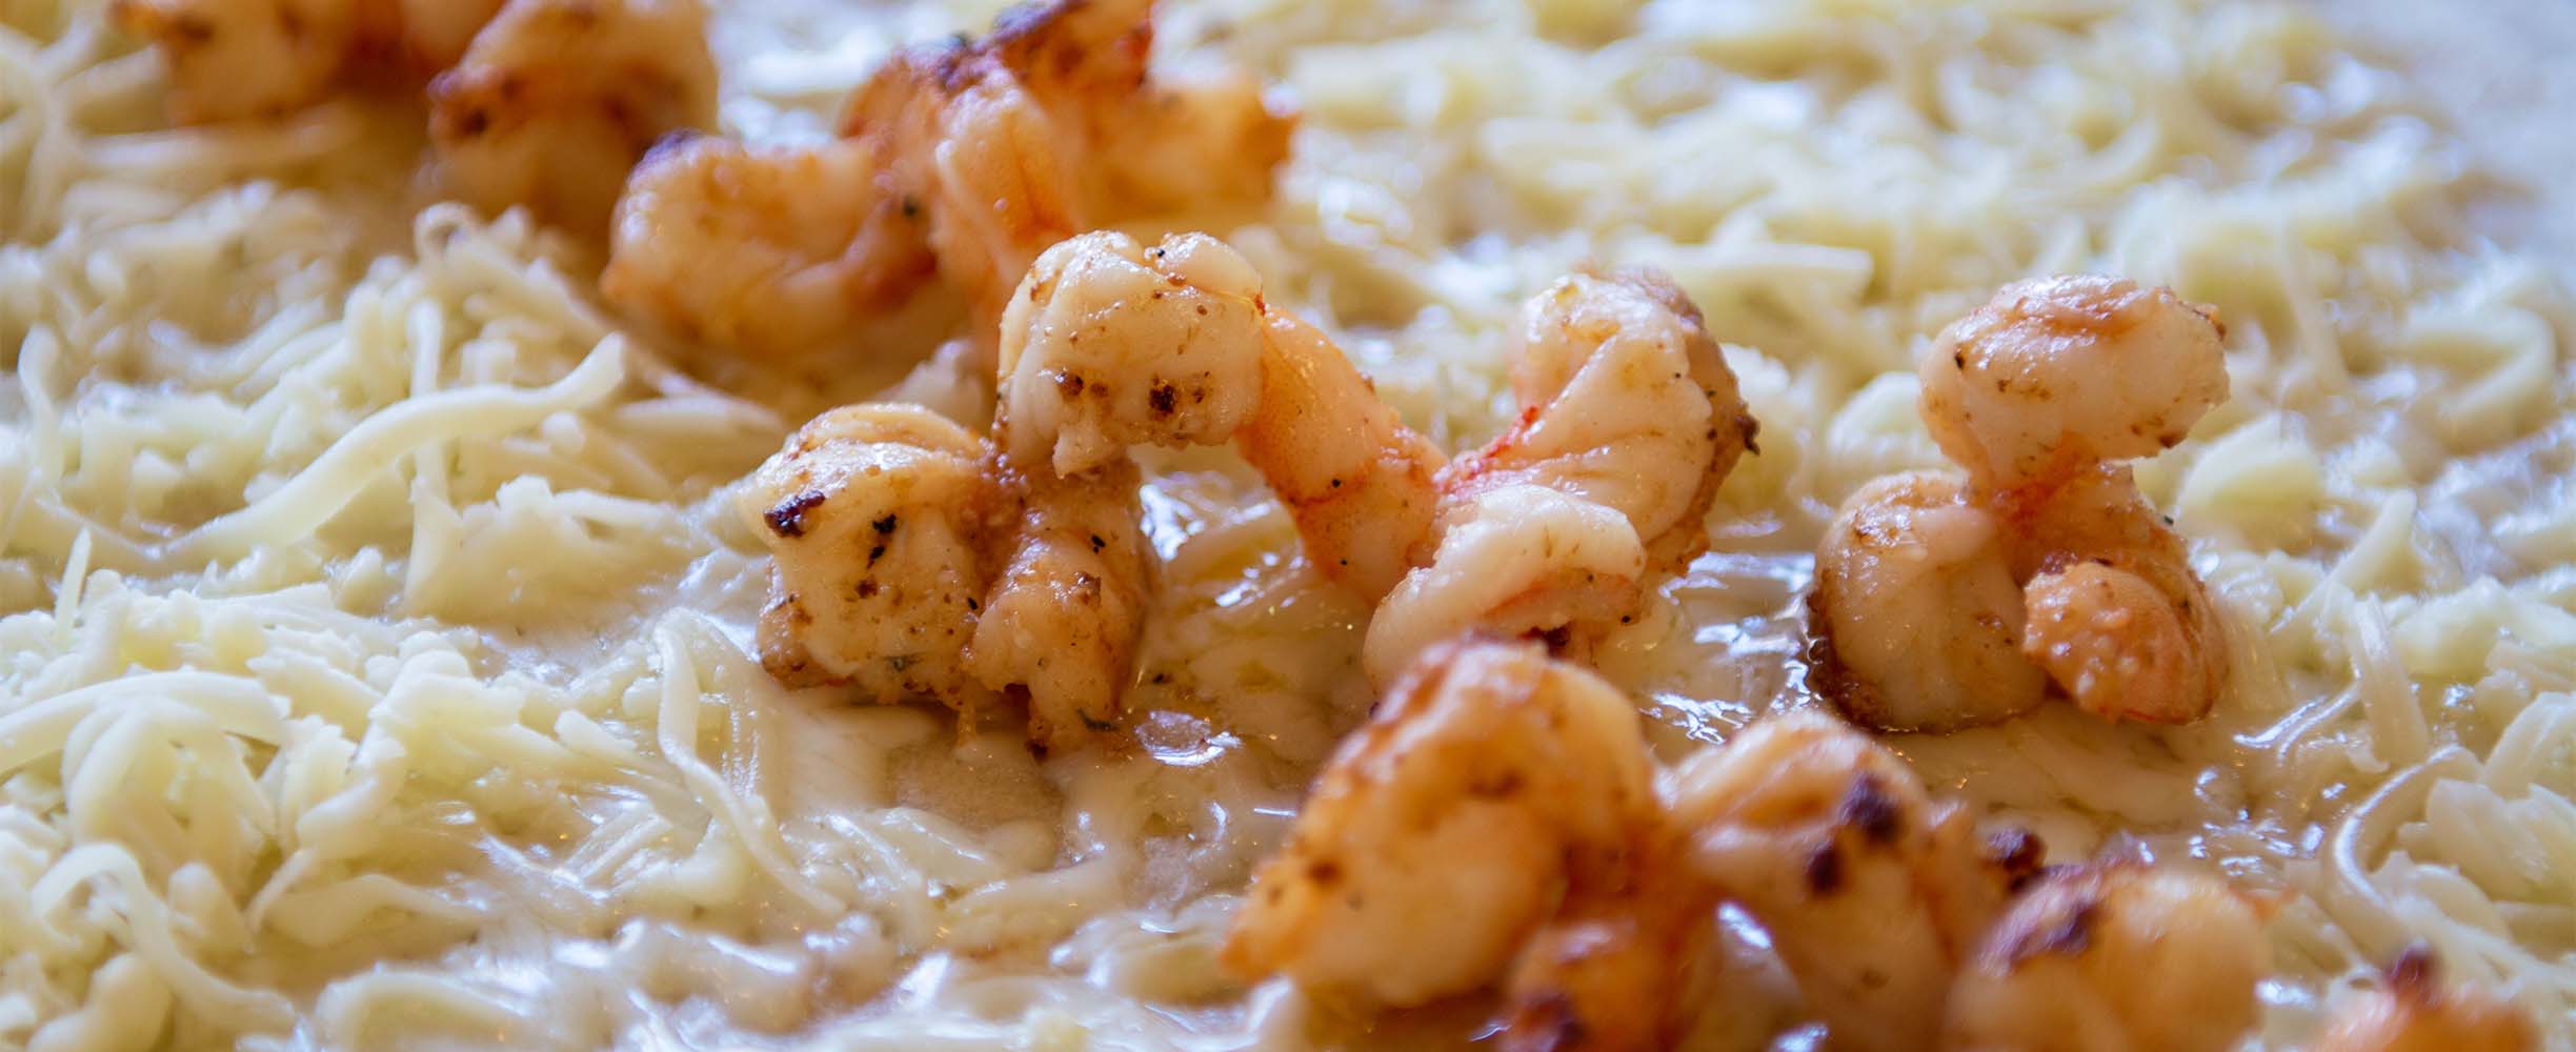
[[[1752,913],[1834,1047],[1922,1047],[1950,980],[2017,879],[1914,771],[1824,714],[1747,727],[1672,774],[1690,864]]]

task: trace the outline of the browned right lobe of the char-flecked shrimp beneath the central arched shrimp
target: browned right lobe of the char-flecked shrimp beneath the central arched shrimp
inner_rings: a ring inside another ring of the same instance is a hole
[[[1028,701],[1028,740],[1059,748],[1118,722],[1144,634],[1146,549],[1136,467],[1010,472],[1020,526],[984,601],[966,668]]]

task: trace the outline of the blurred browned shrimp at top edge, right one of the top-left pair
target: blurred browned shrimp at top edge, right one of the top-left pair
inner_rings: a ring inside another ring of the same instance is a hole
[[[626,173],[662,137],[716,124],[698,0],[510,0],[430,83],[451,191],[605,232]]]

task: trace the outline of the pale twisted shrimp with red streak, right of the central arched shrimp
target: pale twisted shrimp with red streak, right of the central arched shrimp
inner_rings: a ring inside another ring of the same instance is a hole
[[[1703,516],[1754,449],[1734,371],[1659,273],[1530,299],[1512,392],[1520,423],[1440,472],[1437,549],[1370,621],[1373,678],[1468,627],[1584,652],[1633,621],[1649,572],[1705,552]]]

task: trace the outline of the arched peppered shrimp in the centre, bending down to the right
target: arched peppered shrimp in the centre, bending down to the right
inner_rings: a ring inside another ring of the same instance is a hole
[[[1213,237],[1051,248],[1005,317],[1002,376],[1023,462],[1079,472],[1136,443],[1231,438],[1327,578],[1378,598],[1430,554],[1437,449]]]

